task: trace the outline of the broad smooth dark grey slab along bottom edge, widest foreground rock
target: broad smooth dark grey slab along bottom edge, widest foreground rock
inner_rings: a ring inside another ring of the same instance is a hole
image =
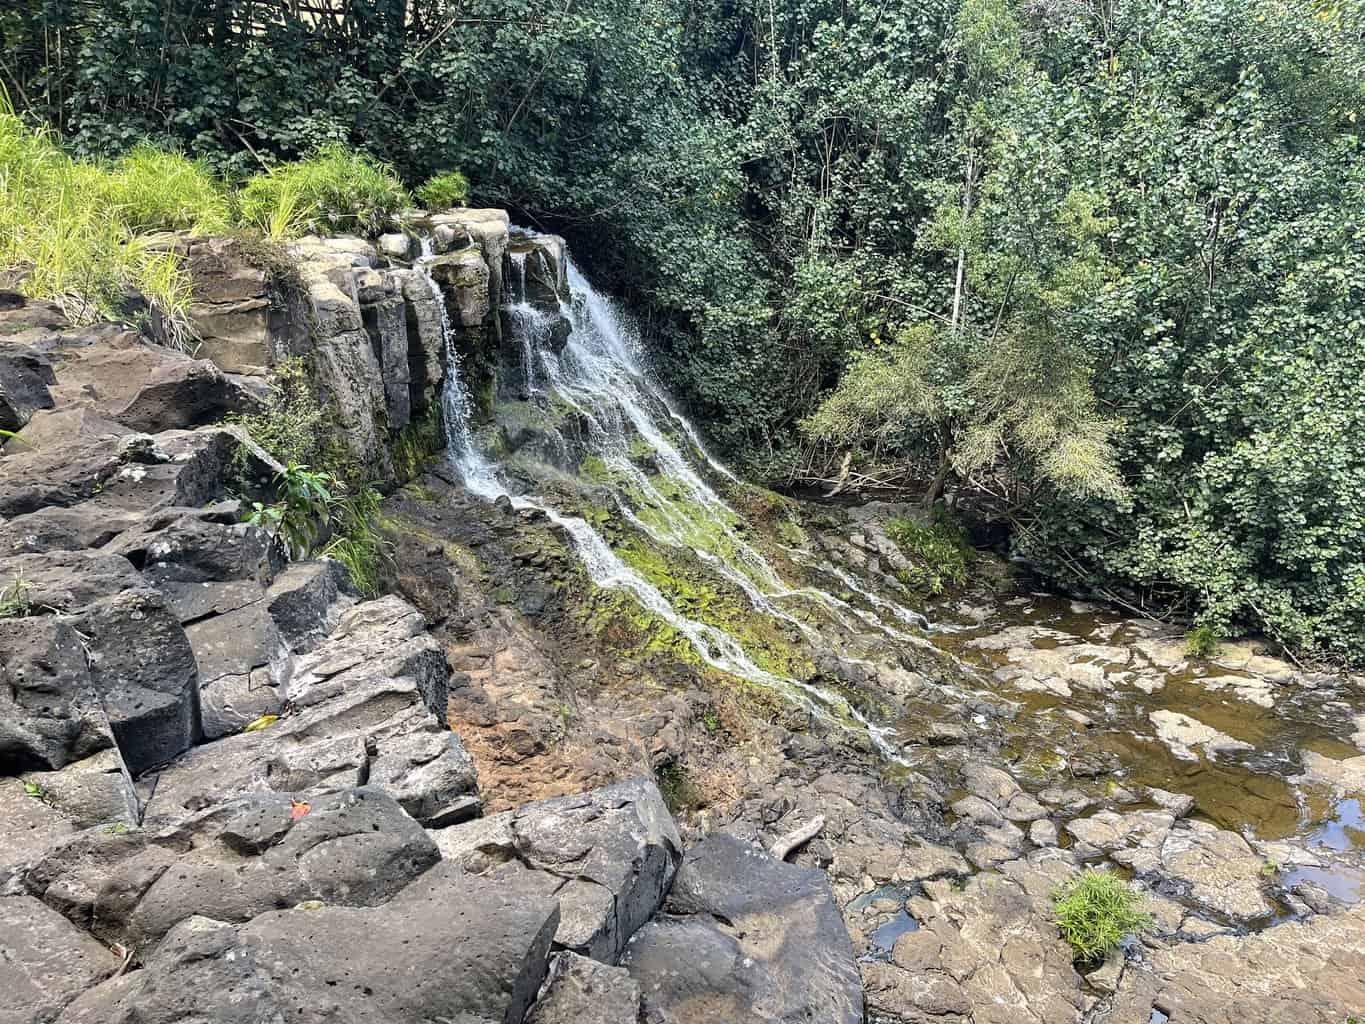
[[[60,1023],[519,1024],[558,927],[531,874],[441,864],[382,907],[190,918],[142,971],[86,993]]]

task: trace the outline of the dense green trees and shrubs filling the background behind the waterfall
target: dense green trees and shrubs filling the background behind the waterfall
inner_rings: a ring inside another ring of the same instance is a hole
[[[1360,4],[328,11],[20,0],[0,75],[78,154],[460,167],[751,470],[852,453],[1069,583],[1365,659]]]

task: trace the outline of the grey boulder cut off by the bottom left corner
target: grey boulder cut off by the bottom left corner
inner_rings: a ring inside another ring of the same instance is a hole
[[[0,991],[7,1024],[51,1024],[120,960],[31,896],[0,897]]]

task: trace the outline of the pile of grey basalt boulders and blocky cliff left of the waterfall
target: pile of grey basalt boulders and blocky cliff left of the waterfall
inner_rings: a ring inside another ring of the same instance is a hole
[[[283,360],[306,359],[381,485],[440,414],[442,319],[495,360],[506,214],[425,228],[420,268],[408,236],[304,239],[292,270],[167,239],[195,280],[192,355],[0,295],[4,1024],[714,1020],[708,997],[654,995],[667,963],[618,964],[684,857],[654,780],[480,816],[449,726],[468,677],[426,617],[243,522],[283,467],[228,421]],[[538,246],[549,300],[562,243]],[[747,968],[756,1019],[854,1020],[846,937],[833,968],[805,945],[837,920],[829,887],[747,849],[717,885],[799,897],[764,923],[792,928],[782,956]],[[807,968],[819,983],[790,987]]]

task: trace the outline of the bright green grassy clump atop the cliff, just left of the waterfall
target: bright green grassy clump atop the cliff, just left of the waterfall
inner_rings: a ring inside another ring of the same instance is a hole
[[[238,197],[242,221],[270,238],[310,232],[378,235],[408,203],[388,164],[328,143],[257,175]]]

